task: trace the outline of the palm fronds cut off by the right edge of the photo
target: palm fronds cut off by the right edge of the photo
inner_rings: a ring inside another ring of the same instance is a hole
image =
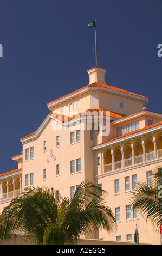
[[[138,182],[137,189],[130,193],[131,203],[138,205],[146,221],[159,229],[162,223],[162,167],[159,165],[152,173],[152,184]]]

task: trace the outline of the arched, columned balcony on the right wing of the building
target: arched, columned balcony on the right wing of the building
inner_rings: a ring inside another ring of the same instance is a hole
[[[150,135],[147,136],[145,141],[138,138],[132,144],[126,142],[122,146],[121,144],[114,145],[113,148],[105,150],[103,158],[105,173],[162,159],[162,133],[156,139],[153,139]]]

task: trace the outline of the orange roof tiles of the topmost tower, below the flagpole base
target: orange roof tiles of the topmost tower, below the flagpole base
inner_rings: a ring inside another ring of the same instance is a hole
[[[80,89],[77,89],[77,90],[75,90],[75,91],[72,92],[72,93],[69,93],[69,94],[64,95],[64,96],[62,96],[62,97],[59,97],[59,99],[56,99],[56,100],[61,100],[63,97],[66,97],[66,96],[69,96],[70,94],[79,92],[79,90],[85,89],[85,88],[87,88],[87,87],[104,87],[104,88],[116,90],[116,91],[118,91],[118,92],[127,93],[127,94],[131,94],[131,95],[134,95],[134,96],[143,97],[144,99],[148,99],[148,97],[145,97],[145,96],[142,96],[142,95],[139,95],[139,94],[136,94],[136,93],[128,92],[127,90],[123,90],[123,89],[120,89],[120,88],[118,88],[118,87],[108,86],[108,84],[103,84],[103,83],[94,82],[94,83],[92,83],[92,84],[88,84],[88,85],[85,86],[85,87],[82,87],[82,88],[80,88]],[[50,103],[55,102],[56,100],[50,101],[49,103],[47,103],[47,105],[49,105]]]

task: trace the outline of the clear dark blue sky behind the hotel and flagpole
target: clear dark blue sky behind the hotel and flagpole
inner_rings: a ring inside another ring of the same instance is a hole
[[[147,109],[162,113],[161,0],[0,0],[0,173],[17,168],[11,157],[47,103],[89,83],[94,16],[106,83],[147,96]]]

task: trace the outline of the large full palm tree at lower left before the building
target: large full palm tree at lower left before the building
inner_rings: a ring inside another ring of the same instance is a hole
[[[106,191],[88,180],[77,187],[72,199],[62,198],[53,188],[28,187],[3,211],[2,234],[21,233],[41,245],[71,245],[98,228],[113,232],[116,221],[104,205],[105,196]]]

